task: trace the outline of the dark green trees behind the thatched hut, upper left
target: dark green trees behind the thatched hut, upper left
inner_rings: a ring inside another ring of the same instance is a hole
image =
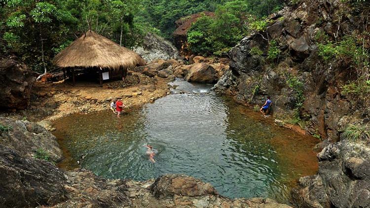
[[[137,44],[144,26],[134,24],[139,0],[2,0],[0,50],[38,72],[88,29],[125,46]]]

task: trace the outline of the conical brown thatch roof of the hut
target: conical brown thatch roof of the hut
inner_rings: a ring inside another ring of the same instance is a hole
[[[145,65],[145,61],[134,51],[92,31],[74,40],[66,49],[54,57],[58,67],[101,67],[119,69]]]

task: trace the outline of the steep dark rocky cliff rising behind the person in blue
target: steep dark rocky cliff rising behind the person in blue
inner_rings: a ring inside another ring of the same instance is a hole
[[[250,104],[261,105],[270,95],[275,118],[294,120],[311,134],[337,141],[343,130],[341,118],[364,119],[369,108],[359,97],[343,96],[343,86],[358,76],[358,69],[351,62],[325,60],[320,38],[332,44],[359,34],[361,47],[369,50],[370,5],[365,1],[298,2],[269,16],[265,30],[244,37],[230,50],[231,71],[215,88]]]

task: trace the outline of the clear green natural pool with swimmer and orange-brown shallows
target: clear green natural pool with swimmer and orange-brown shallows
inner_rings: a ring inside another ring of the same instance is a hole
[[[60,166],[106,178],[146,180],[185,173],[213,184],[227,197],[289,201],[299,176],[313,174],[316,139],[280,128],[259,113],[208,93],[211,86],[183,81],[174,94],[132,110],[75,114],[55,122],[66,152]],[[180,91],[187,93],[180,94]],[[148,161],[145,144],[158,151]]]

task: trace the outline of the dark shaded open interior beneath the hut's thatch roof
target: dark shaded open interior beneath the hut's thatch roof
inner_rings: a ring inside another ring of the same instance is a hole
[[[127,69],[67,68],[63,69],[63,75],[65,82],[72,86],[103,86],[107,82],[126,78]]]

